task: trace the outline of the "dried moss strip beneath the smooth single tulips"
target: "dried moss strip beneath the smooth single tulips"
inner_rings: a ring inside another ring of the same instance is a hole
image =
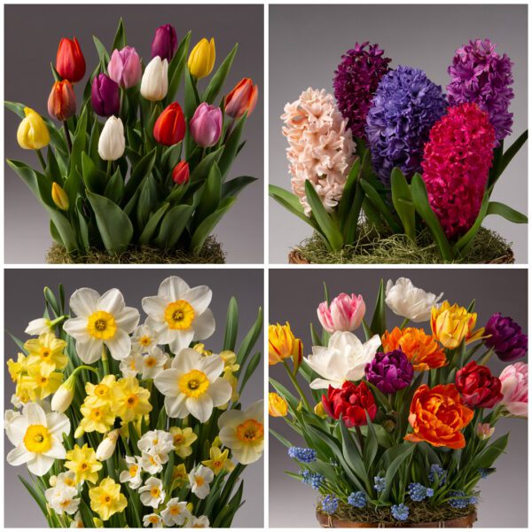
[[[223,264],[225,254],[214,237],[209,237],[200,254],[184,250],[163,251],[157,247],[132,247],[120,255],[91,249],[85,255],[69,254],[54,242],[46,255],[49,264]]]

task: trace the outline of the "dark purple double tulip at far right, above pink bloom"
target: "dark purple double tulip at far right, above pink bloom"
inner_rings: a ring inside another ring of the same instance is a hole
[[[512,362],[528,353],[528,335],[511,317],[504,317],[500,312],[489,318],[484,334],[488,336],[484,340],[486,346],[504,362]]]

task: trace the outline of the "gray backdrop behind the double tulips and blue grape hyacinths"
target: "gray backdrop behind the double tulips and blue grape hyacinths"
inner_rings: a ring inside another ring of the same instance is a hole
[[[483,326],[494,312],[511,316],[527,332],[527,270],[271,270],[270,323],[290,322],[293,333],[301,337],[305,356],[311,353],[309,323],[319,327],[316,309],[323,301],[325,281],[331,297],[340,292],[362,293],[366,312],[372,317],[379,280],[411,278],[414,285],[433,293],[443,292],[451,303],[467,306],[476,299],[477,325]],[[289,291],[290,297],[286,297]],[[304,304],[301,302],[304,301]],[[387,310],[387,328],[401,324],[402,318]],[[419,324],[427,332],[430,325]],[[321,329],[318,329],[321,330]],[[356,331],[364,337],[362,331]],[[495,360],[494,360],[495,359]],[[489,363],[498,375],[505,364],[493,357]],[[274,379],[293,389],[280,365],[271,366]],[[301,383],[303,382],[300,379]],[[294,445],[303,444],[281,419],[270,418],[271,428],[284,434]],[[480,481],[481,503],[477,527],[526,527],[528,501],[527,421],[502,419],[496,435],[512,432],[506,454],[496,463],[497,472]],[[286,448],[270,436],[270,527],[317,527],[314,507],[317,492],[288,477],[284,471],[295,471],[296,465],[286,455]],[[297,516],[297,520],[293,519]]]

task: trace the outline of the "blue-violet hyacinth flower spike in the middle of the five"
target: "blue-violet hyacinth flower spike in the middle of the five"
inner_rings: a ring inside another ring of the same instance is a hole
[[[442,88],[422,70],[398,66],[383,76],[365,129],[373,169],[382,183],[389,184],[395,167],[407,177],[419,171],[429,131],[446,106]]]

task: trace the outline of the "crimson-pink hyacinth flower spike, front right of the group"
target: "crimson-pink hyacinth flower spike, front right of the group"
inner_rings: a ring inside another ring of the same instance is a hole
[[[464,234],[481,209],[495,130],[476,104],[450,107],[430,131],[422,163],[428,201],[448,239]]]

